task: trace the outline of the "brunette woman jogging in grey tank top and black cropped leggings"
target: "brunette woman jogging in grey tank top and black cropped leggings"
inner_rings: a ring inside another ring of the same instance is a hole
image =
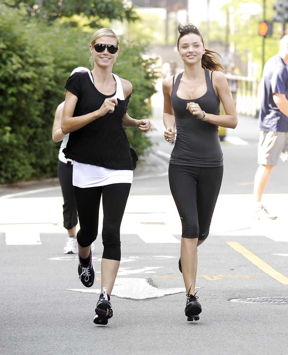
[[[169,183],[181,222],[181,259],[188,321],[202,311],[195,295],[197,246],[209,234],[223,175],[218,125],[235,128],[237,116],[225,75],[215,52],[205,49],[198,29],[178,26],[178,52],[184,72],[163,81],[164,137],[177,139],[169,164]],[[220,100],[225,115],[220,113]],[[176,124],[176,129],[175,129]]]

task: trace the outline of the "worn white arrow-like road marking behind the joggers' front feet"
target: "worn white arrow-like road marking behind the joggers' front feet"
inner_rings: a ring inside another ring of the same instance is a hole
[[[186,292],[184,288],[159,289],[149,284],[149,279],[140,278],[116,278],[112,296],[144,300],[147,298],[163,297],[176,293]],[[100,294],[100,289],[66,289],[83,293]]]

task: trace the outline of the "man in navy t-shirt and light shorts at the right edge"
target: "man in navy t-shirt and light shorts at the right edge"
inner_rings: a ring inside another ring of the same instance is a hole
[[[255,218],[276,219],[261,203],[269,176],[280,157],[288,159],[288,35],[280,40],[278,54],[270,58],[263,70],[260,84],[260,140],[258,170],[254,180]]]

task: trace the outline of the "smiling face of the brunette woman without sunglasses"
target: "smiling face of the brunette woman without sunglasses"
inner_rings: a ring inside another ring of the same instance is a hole
[[[201,62],[205,47],[198,34],[189,33],[180,38],[178,52],[184,63],[195,64]]]

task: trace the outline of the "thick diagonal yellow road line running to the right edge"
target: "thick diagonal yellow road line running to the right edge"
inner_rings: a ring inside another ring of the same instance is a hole
[[[264,271],[267,275],[273,277],[273,279],[281,282],[284,285],[288,285],[288,277],[280,274],[278,271],[273,269],[270,265],[268,265],[265,261],[257,257],[255,254],[251,253],[248,249],[244,248],[241,244],[237,242],[226,242],[231,248],[238,251],[238,253],[242,254],[246,259],[251,261],[254,265],[256,265],[260,270]]]

